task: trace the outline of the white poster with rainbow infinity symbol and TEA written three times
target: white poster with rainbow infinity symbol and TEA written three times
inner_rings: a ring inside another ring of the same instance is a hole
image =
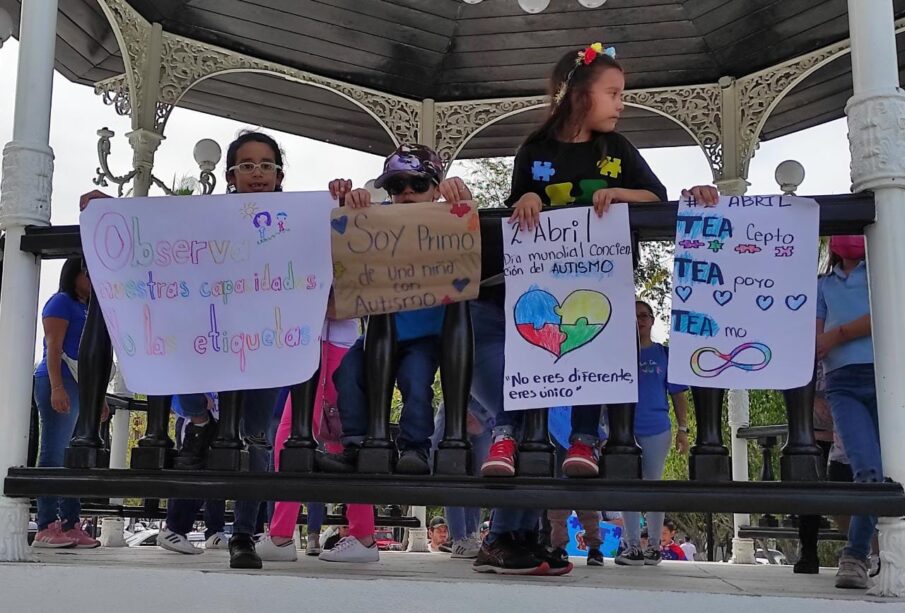
[[[795,196],[682,200],[669,380],[790,389],[811,380],[819,208]]]

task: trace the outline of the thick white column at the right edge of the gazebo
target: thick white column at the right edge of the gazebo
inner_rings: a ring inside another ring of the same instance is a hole
[[[880,447],[886,476],[905,482],[905,93],[899,89],[891,0],[848,0],[854,96],[845,107],[852,190],[873,190],[867,261]],[[905,520],[880,519],[880,575],[869,593],[905,596]]]

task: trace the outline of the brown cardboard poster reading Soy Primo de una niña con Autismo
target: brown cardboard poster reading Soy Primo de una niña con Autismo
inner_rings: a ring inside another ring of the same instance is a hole
[[[481,223],[471,202],[342,208],[330,224],[337,317],[478,297]]]

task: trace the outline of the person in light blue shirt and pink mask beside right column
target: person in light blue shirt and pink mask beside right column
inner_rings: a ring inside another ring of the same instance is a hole
[[[817,358],[826,399],[858,483],[883,481],[870,300],[863,236],[830,239],[827,273],[817,284]],[[877,518],[853,516],[836,587],[868,587],[868,556]]]

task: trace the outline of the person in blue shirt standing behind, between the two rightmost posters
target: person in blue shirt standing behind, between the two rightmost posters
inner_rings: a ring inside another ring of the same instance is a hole
[[[669,420],[669,399],[672,398],[676,414],[675,447],[680,453],[688,452],[688,402],[684,385],[666,380],[669,352],[650,338],[654,325],[654,310],[643,300],[635,301],[638,318],[638,404],[635,407],[635,440],[641,447],[641,476],[644,479],[662,479],[666,456],[672,443],[672,423]],[[641,548],[641,514],[636,511],[622,513],[625,522],[626,548],[616,557],[622,566],[655,566],[660,563],[661,551],[656,546]],[[648,526],[662,526],[664,513],[647,513]]]

